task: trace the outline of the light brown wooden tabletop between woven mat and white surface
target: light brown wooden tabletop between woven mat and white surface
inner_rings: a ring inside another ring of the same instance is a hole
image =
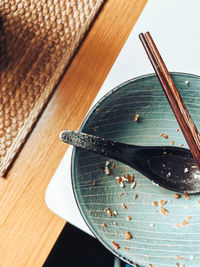
[[[77,130],[147,0],[107,0],[7,178],[0,180],[0,266],[42,266],[65,221],[44,196],[67,147],[61,129]]]

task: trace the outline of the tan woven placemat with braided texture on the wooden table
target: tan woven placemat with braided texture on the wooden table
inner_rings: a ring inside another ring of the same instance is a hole
[[[0,176],[105,0],[0,1]]]

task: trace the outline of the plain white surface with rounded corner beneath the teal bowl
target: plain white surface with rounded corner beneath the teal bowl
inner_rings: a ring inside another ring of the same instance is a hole
[[[153,72],[138,38],[140,32],[151,32],[169,71],[200,75],[199,26],[199,0],[149,0],[93,105],[120,83]],[[52,212],[92,235],[74,199],[71,152],[69,147],[47,187],[45,201]]]

